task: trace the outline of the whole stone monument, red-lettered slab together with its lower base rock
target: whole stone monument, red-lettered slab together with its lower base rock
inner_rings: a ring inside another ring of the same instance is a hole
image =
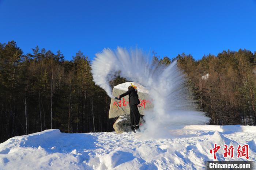
[[[138,96],[140,100],[140,115],[144,115],[144,111],[153,107],[152,99],[149,96],[148,90],[146,87],[132,82],[133,85],[138,88]],[[120,94],[125,93],[128,90],[128,87],[131,85],[131,82],[125,82],[123,84],[119,84],[114,86],[113,88],[113,96],[117,97]],[[119,117],[120,116],[120,117]],[[121,98],[121,100],[116,100],[114,98],[111,99],[110,109],[109,109],[109,119],[119,117],[113,125],[114,130],[117,133],[128,132],[130,131],[131,121],[130,121],[130,107],[129,107],[129,98],[128,95]],[[140,123],[143,122],[140,119]]]

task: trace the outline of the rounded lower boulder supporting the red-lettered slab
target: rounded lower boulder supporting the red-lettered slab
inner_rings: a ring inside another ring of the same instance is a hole
[[[140,118],[139,124],[143,124],[144,121]],[[114,130],[117,134],[121,134],[123,132],[130,132],[131,131],[131,119],[130,115],[119,116],[116,122],[113,124]]]

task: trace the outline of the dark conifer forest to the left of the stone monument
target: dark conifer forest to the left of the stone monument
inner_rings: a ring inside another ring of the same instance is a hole
[[[68,133],[113,131],[109,105],[81,51],[66,61],[60,51],[35,47],[23,54],[14,41],[0,43],[0,142],[51,128]]]

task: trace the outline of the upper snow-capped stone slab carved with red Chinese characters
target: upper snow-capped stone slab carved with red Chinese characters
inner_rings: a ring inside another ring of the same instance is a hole
[[[140,100],[140,108],[139,112],[140,115],[144,115],[144,110],[150,109],[153,107],[152,99],[148,94],[148,90],[135,82],[132,82],[133,85],[138,87],[138,96]],[[123,84],[119,84],[114,86],[113,88],[113,96],[117,97],[120,94],[125,93],[128,90],[128,86],[131,85],[131,82],[125,82]],[[130,114],[130,107],[129,107],[129,97],[128,95],[121,98],[121,100],[116,100],[114,98],[111,99],[110,109],[109,109],[109,119],[122,116],[122,115],[129,115]]]

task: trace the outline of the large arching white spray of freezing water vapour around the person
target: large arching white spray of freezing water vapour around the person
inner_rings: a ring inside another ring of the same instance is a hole
[[[110,97],[114,96],[109,81],[116,76],[148,89],[154,99],[154,108],[145,113],[144,136],[159,138],[168,134],[170,125],[205,124],[209,121],[203,112],[196,110],[176,61],[169,66],[159,65],[142,50],[128,51],[117,47],[116,51],[104,49],[96,54],[92,73],[95,84],[105,89]]]

